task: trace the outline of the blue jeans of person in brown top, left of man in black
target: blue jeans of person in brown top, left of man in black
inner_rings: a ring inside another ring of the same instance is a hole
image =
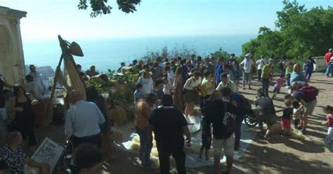
[[[143,166],[150,165],[150,152],[152,151],[152,142],[148,142],[148,128],[136,127],[136,133],[140,137],[139,159]]]

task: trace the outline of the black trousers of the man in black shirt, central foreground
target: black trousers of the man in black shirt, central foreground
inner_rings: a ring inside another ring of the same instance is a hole
[[[171,147],[171,145],[166,145],[165,147],[159,146],[157,142],[157,151],[159,158],[159,171],[161,174],[169,174],[170,170],[170,155],[174,157],[176,161],[176,167],[178,174],[185,174],[185,152],[183,146]]]

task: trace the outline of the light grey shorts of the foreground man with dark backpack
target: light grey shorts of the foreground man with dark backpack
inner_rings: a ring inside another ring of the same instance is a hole
[[[235,148],[235,134],[230,136],[228,139],[215,139],[213,140],[214,156],[222,156],[223,154],[227,157],[233,157],[233,150]]]

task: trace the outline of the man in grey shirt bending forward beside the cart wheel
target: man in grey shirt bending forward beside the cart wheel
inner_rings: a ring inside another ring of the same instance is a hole
[[[269,139],[272,126],[276,122],[273,100],[270,97],[261,96],[254,100],[254,104],[261,108],[258,118],[261,134],[264,135],[264,138]],[[266,133],[263,130],[263,123],[266,123],[268,127]]]

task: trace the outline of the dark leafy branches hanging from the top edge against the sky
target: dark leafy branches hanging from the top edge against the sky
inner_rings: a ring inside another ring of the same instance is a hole
[[[124,13],[133,13],[136,11],[136,6],[141,0],[117,0],[118,9]],[[79,10],[91,8],[91,17],[96,18],[98,15],[106,15],[111,13],[112,7],[107,4],[108,0],[79,0],[77,7]]]

